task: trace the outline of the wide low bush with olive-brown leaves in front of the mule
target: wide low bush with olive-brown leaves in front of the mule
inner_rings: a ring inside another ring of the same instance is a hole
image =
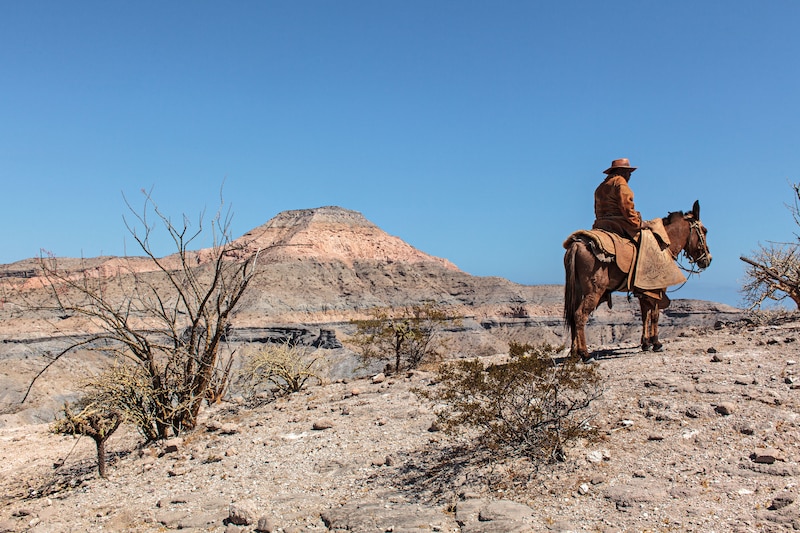
[[[434,403],[447,432],[477,429],[481,444],[498,456],[562,461],[569,444],[594,434],[588,408],[602,390],[594,365],[557,362],[555,354],[548,345],[512,342],[508,363],[446,363],[436,388],[417,392]]]

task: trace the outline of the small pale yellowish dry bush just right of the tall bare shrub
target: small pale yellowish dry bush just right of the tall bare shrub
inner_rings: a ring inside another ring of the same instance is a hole
[[[260,392],[291,394],[299,392],[309,380],[320,382],[319,358],[304,346],[289,342],[268,343],[244,351],[238,382],[245,396],[253,398]]]

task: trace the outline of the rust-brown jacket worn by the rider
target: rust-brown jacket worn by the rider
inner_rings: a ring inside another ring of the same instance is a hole
[[[594,191],[594,216],[592,226],[619,235],[636,238],[642,226],[642,215],[633,205],[633,191],[619,175],[609,175]]]

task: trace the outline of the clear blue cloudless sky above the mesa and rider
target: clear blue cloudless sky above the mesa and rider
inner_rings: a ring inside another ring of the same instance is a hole
[[[121,255],[123,194],[194,216],[224,181],[235,237],[338,205],[563,283],[629,157],[645,218],[699,199],[709,228],[672,296],[738,304],[739,256],[799,229],[799,26],[795,0],[2,2],[0,263]]]

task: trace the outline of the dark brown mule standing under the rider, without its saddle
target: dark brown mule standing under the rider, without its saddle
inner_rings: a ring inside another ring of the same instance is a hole
[[[695,201],[690,213],[675,211],[662,219],[669,237],[669,251],[674,260],[683,252],[691,264],[700,270],[711,264],[706,235],[708,230],[700,222],[700,203]],[[580,356],[583,361],[590,360],[586,347],[586,323],[589,315],[604,301],[611,307],[611,293],[627,292],[628,273],[623,272],[615,261],[603,262],[597,259],[589,246],[573,240],[566,245],[564,270],[564,321],[570,330],[572,343],[570,354]],[[666,287],[662,293],[666,291]],[[642,311],[642,351],[663,350],[658,340],[658,318],[661,308],[669,305],[669,300],[659,300],[634,290],[639,298]],[[665,305],[666,302],[666,305]]]

